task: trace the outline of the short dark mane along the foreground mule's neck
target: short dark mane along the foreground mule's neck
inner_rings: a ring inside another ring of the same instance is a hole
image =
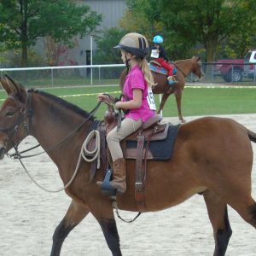
[[[28,90],[29,92],[33,92],[33,93],[38,93],[42,96],[45,96],[47,98],[49,98],[50,100],[60,104],[62,107],[64,108],[68,108],[69,110],[72,110],[74,113],[78,113],[79,115],[81,115],[82,117],[84,117],[85,119],[86,118],[89,118],[90,116],[90,113],[88,113],[87,111],[85,111],[84,109],[82,108],[79,108],[78,106],[74,105],[73,103],[70,103],[70,102],[67,102],[63,99],[61,99],[61,97],[58,97],[58,96],[55,96],[55,95],[52,95],[48,92],[45,92],[43,90],[33,90],[33,89],[30,89]],[[91,116],[90,117],[91,120],[94,120],[95,117],[94,116]]]

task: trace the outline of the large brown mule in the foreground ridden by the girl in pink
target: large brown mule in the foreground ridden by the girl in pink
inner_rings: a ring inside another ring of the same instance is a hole
[[[1,78],[0,84],[8,94],[0,109],[1,159],[10,148],[17,148],[22,139],[31,135],[58,166],[61,179],[67,184],[76,169],[84,138],[95,129],[98,121],[59,97],[26,90],[8,77]],[[207,117],[181,125],[172,159],[148,160],[144,183],[148,211],[173,207],[201,193],[212,223],[214,255],[224,255],[232,233],[227,204],[256,228],[256,203],[251,196],[253,149],[250,141],[256,143],[256,133],[232,119]],[[126,160],[126,164],[127,190],[117,195],[117,205],[119,209],[137,212],[136,162]],[[65,189],[72,201],[55,229],[51,256],[60,255],[69,232],[89,212],[100,224],[113,255],[121,255],[112,201],[96,186],[96,181],[102,178],[101,170],[90,181],[90,163],[80,163],[73,183]]]

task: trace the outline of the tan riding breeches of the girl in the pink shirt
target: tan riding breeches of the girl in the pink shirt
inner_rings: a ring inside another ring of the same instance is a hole
[[[117,131],[117,127],[109,131],[107,142],[113,161],[124,157],[120,141],[129,136],[132,132],[137,131],[142,125],[142,119],[136,121],[134,119],[125,118],[122,120],[119,131]]]

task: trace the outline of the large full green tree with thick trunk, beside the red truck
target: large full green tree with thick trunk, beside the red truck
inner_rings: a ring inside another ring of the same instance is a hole
[[[256,8],[253,3],[253,0],[173,0],[171,3],[163,0],[161,20],[166,29],[175,28],[183,39],[202,44],[207,62],[211,62],[218,46],[241,33],[253,19]]]

